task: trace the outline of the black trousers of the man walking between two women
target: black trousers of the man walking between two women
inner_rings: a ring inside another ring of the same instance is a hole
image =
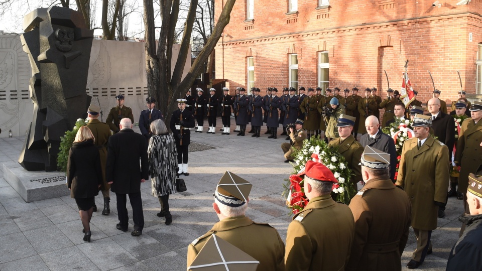
[[[115,193],[117,197],[117,214],[121,227],[127,229],[129,226],[129,215],[127,213],[127,194]],[[144,228],[144,213],[142,212],[141,192],[129,193],[129,200],[132,206],[132,219],[134,230],[142,231]]]

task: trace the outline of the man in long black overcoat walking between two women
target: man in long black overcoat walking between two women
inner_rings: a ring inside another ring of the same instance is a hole
[[[131,232],[131,235],[139,236],[144,228],[141,183],[149,178],[147,144],[146,139],[132,129],[131,119],[123,118],[119,127],[121,130],[112,135],[107,144],[105,179],[111,185],[110,190],[117,196],[119,223],[116,228],[122,231],[128,230],[129,216],[126,208],[126,196],[129,194],[134,220],[134,231]]]

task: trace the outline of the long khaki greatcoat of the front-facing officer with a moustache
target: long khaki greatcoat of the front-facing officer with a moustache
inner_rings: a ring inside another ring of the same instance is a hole
[[[412,203],[412,227],[437,228],[438,206],[445,203],[450,180],[447,146],[428,137],[420,150],[417,138],[403,144],[397,185],[405,189]]]

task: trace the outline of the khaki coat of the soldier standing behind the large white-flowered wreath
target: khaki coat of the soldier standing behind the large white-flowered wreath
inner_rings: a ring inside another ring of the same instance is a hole
[[[341,138],[336,138],[328,143],[328,147],[338,147],[338,152],[345,158],[348,168],[353,171],[355,176],[351,176],[350,181],[355,185],[362,181],[362,166],[359,165],[362,159],[363,146],[350,134],[348,138],[340,142]]]

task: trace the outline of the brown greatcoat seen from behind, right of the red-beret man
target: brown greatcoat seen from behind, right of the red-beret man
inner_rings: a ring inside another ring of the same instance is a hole
[[[374,178],[351,199],[349,207],[355,238],[345,270],[401,270],[412,218],[407,193],[390,179]]]

